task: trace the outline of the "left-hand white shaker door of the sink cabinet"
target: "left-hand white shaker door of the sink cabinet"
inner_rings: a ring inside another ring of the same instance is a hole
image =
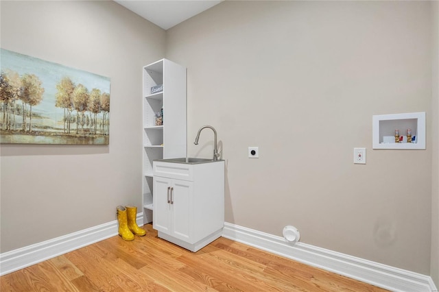
[[[169,178],[154,177],[154,212],[152,225],[155,230],[171,235],[171,204],[170,188],[171,180]]]

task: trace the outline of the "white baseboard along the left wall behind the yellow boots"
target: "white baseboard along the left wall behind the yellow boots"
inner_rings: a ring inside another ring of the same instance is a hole
[[[137,214],[137,225],[143,226],[143,212]],[[118,234],[117,220],[73,232],[55,239],[21,247],[0,254],[0,276],[78,250]]]

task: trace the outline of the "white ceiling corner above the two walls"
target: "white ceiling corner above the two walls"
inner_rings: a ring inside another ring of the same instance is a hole
[[[178,25],[192,16],[208,10],[220,1],[213,0],[115,0],[128,10],[139,14],[163,29]]]

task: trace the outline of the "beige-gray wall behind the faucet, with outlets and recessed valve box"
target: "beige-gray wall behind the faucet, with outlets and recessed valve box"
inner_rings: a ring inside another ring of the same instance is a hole
[[[188,152],[226,159],[226,221],[430,272],[427,149],[372,149],[372,115],[426,112],[431,3],[225,1],[167,31],[188,68]],[[259,146],[260,158],[247,148]],[[367,164],[353,165],[353,148]]]

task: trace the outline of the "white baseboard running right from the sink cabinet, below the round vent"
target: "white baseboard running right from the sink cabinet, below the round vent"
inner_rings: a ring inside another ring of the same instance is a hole
[[[224,223],[222,236],[256,247],[259,250],[291,258],[300,263],[332,271],[390,291],[438,291],[430,276],[325,250],[306,243],[298,242],[292,245],[281,236],[274,236],[231,223]]]

